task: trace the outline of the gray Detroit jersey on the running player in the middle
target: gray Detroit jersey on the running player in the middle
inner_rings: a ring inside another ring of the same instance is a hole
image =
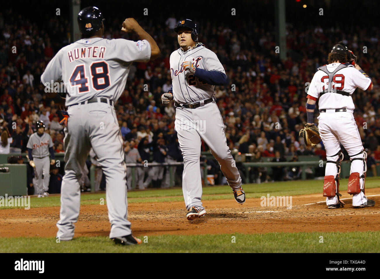
[[[187,104],[214,96],[215,85],[210,85],[199,80],[190,71],[184,71],[182,67],[184,61],[192,61],[192,64],[196,68],[206,71],[225,73],[217,55],[203,45],[199,45],[195,49],[189,49],[186,52],[183,52],[180,48],[175,50],[170,55],[170,74],[174,101]]]

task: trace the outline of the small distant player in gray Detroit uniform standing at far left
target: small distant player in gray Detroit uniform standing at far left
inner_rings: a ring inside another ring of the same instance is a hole
[[[30,135],[27,148],[29,164],[33,167],[33,181],[39,198],[47,197],[49,193],[50,165],[55,163],[53,140],[45,133],[44,121],[37,121],[37,132]],[[51,160],[49,160],[49,152]]]

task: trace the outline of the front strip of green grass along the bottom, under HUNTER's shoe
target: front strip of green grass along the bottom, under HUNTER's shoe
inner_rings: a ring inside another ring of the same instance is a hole
[[[144,236],[139,237],[144,240]],[[380,232],[161,235],[146,237],[145,241],[126,247],[114,244],[107,237],[77,237],[60,243],[54,238],[0,238],[0,253],[380,252]]]

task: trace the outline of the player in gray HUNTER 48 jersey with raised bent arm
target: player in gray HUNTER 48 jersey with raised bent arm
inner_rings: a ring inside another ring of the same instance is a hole
[[[125,88],[132,62],[155,59],[160,49],[133,18],[125,19],[122,31],[135,32],[139,41],[103,39],[103,20],[97,7],[82,9],[78,24],[84,38],[60,49],[41,76],[43,84],[51,80],[69,83],[65,99],[69,116],[64,139],[66,166],[57,238],[71,240],[74,236],[80,206],[79,179],[92,147],[106,175],[109,237],[117,244],[140,244],[127,219],[126,167],[114,102]],[[59,95],[48,97],[62,104]]]

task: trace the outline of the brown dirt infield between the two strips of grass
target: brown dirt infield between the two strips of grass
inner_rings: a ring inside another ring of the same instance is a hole
[[[185,218],[184,202],[131,203],[128,217],[139,236],[380,230],[380,188],[368,189],[366,194],[374,195],[370,197],[376,202],[374,207],[354,209],[347,199],[344,208],[328,210],[325,203],[316,203],[324,200],[321,194],[293,196],[292,209],[262,207],[260,199],[239,205],[231,196],[205,201],[206,216],[193,222]],[[0,210],[0,237],[54,237],[58,219],[59,207]],[[106,205],[81,206],[76,236],[107,236],[109,229]]]

